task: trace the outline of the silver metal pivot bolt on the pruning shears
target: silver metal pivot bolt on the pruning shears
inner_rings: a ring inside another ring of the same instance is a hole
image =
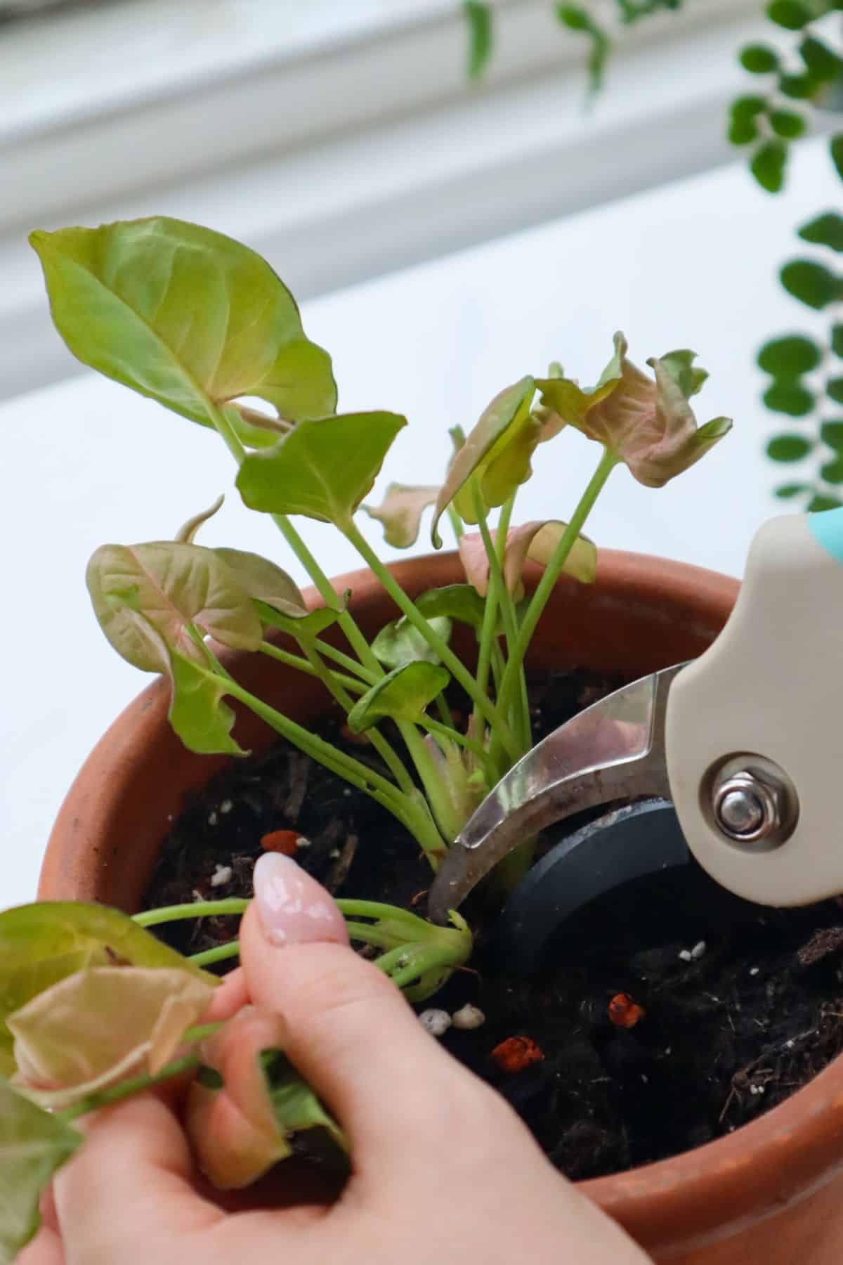
[[[720,770],[712,787],[714,821],[737,844],[776,846],[792,830],[792,788],[782,773],[755,768]]]

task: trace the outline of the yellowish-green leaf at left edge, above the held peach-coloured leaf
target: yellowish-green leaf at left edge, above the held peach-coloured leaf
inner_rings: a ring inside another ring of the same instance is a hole
[[[0,913],[0,1075],[15,1070],[10,1015],[78,970],[124,961],[177,968],[216,982],[128,915],[104,904],[43,901]]]

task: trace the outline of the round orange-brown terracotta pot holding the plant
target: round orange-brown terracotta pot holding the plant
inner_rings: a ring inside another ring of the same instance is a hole
[[[393,573],[411,595],[461,579],[452,554],[402,562]],[[345,576],[336,587],[353,589],[353,610],[364,630],[372,632],[394,616],[368,572]],[[700,654],[723,626],[737,589],[736,581],[695,567],[603,552],[594,586],[567,579],[557,586],[531,662],[631,677],[652,672]],[[456,649],[470,657],[473,636],[460,636],[458,631]],[[227,662],[236,664],[246,688],[258,688],[305,724],[325,708],[321,684],[308,677],[260,655]],[[145,689],[85,763],[49,840],[42,898],[138,907],[183,793],[225,763],[182,748],[167,725],[167,693],[161,681]],[[241,745],[260,749],[273,740],[253,716],[238,716]],[[843,1059],[838,1059],[789,1102],[732,1136],[586,1182],[583,1189],[657,1261],[839,1265],[842,1169]]]

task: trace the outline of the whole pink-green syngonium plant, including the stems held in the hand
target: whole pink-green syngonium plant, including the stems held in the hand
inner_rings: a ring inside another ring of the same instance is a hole
[[[235,460],[243,501],[272,516],[321,596],[308,607],[274,559],[197,544],[217,501],[172,540],[96,550],[87,584],[106,638],[138,668],[169,679],[169,721],[187,748],[245,754],[226,703],[234,698],[388,808],[435,870],[487,791],[531,746],[525,655],[559,577],[595,577],[597,550],[583,526],[614,467],[626,464],[645,486],[661,487],[729,429],[724,417],[696,425],[689,401],[707,374],[694,353],[651,359],[651,376],[627,358],[617,334],[590,390],[557,364],[546,377],[525,376],[468,434],[451,431],[441,486],[393,483],[373,506],[367,498],[406,419],[336,411],[329,355],[307,339],[289,291],[253,250],[172,219],[38,231],[30,240],[73,354],[216,431]],[[255,409],[255,400],[265,407]],[[535,462],[554,459],[547,445],[567,428],[599,448],[579,503],[567,521],[513,526],[518,488]],[[355,516],[363,510],[389,544],[407,548],[428,506],[436,546],[440,525],[450,522],[465,583],[411,600]],[[334,589],[310,552],[302,519],[332,524],[398,607],[398,619],[372,640],[349,595]],[[527,560],[541,568],[531,595]],[[474,668],[451,649],[455,624],[474,631]],[[340,636],[326,638],[329,629]],[[370,758],[350,755],[245,689],[219,646],[317,677],[349,729],[368,737]],[[449,703],[451,684],[468,696],[465,720]],[[499,877],[504,889],[531,855],[527,840]],[[188,959],[145,929],[241,913],[246,904],[193,902],[130,918],[59,902],[0,915],[0,1265],[34,1233],[40,1189],[81,1142],[71,1125],[77,1116],[187,1069],[205,1095],[200,1109],[214,1112],[224,1073],[214,1059],[219,1025],[201,1021],[219,980],[205,968],[235,956],[238,944]],[[432,996],[471,954],[471,932],[458,913],[439,927],[375,902],[339,904],[351,940],[379,950],[377,964],[409,1001]],[[254,1180],[289,1154],[297,1132],[318,1130],[343,1149],[341,1131],[282,1051],[262,1055],[249,1093],[245,1140],[221,1137],[220,1154],[203,1157],[221,1184]]]

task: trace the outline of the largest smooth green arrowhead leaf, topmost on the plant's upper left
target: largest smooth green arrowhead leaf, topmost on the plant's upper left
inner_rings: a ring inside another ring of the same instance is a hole
[[[330,358],[248,247],[166,218],[39,230],[29,240],[56,328],[83,364],[202,425],[214,406],[240,396],[289,420],[334,410]]]

